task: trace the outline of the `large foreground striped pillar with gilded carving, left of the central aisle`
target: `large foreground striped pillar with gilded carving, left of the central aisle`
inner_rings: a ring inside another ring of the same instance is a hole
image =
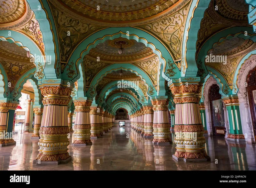
[[[71,88],[47,86],[40,88],[44,96],[44,113],[39,130],[39,154],[33,163],[60,164],[71,161],[68,153],[68,103]]]

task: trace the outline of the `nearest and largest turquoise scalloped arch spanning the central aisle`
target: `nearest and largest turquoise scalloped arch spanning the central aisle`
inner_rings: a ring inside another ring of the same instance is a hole
[[[102,37],[99,38],[99,36]],[[76,47],[75,51],[72,53],[70,59],[68,60],[68,64],[75,62],[76,65],[77,74],[74,75],[72,81],[75,82],[77,79],[80,78],[81,75],[80,72],[78,72],[78,67],[82,63],[84,56],[88,54],[92,48],[96,47],[96,45],[99,43],[105,42],[106,40],[113,40],[118,37],[127,38],[128,40],[133,39],[137,42],[144,43],[145,46],[151,48],[152,51],[158,55],[160,62],[164,65],[163,71],[166,68],[166,60],[170,60],[173,63],[173,59],[168,50],[154,36],[133,27],[110,27],[90,35]],[[84,50],[85,46],[86,48]],[[78,59],[77,56],[79,57]],[[67,71],[67,67],[65,71]],[[170,81],[170,78],[168,78],[168,76],[166,76],[165,74],[164,79]]]

